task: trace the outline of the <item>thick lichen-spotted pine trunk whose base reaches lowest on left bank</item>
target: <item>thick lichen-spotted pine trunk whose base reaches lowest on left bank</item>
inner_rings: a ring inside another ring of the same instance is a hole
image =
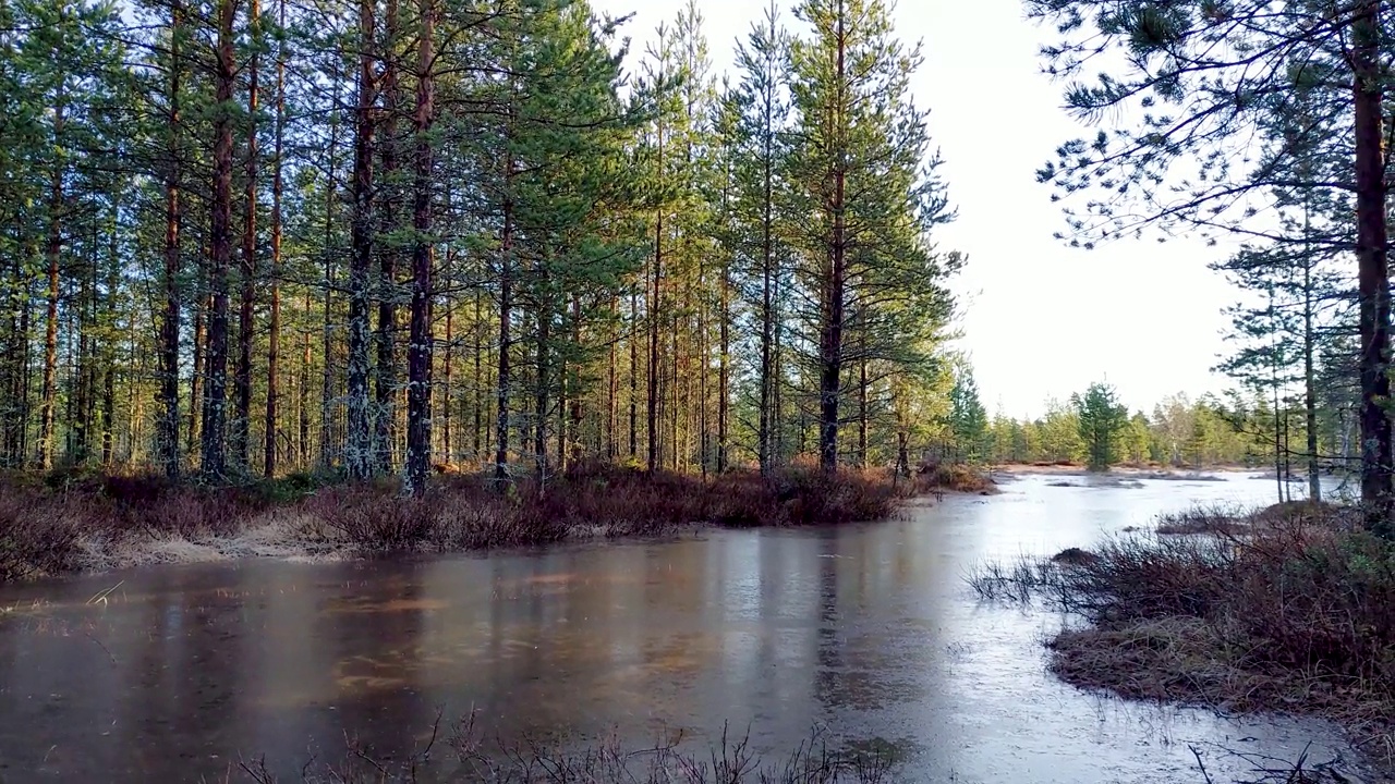
[[[417,43],[416,179],[412,198],[412,342],[407,346],[407,491],[421,495],[431,470],[431,124],[435,119],[435,6],[421,0]]]

